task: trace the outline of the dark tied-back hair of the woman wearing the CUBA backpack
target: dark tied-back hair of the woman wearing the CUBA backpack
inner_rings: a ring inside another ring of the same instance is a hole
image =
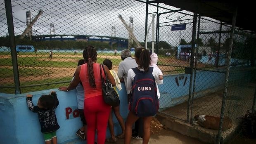
[[[143,47],[137,48],[135,50],[135,58],[138,62],[138,68],[143,68],[144,71],[147,71],[151,60],[149,51]]]

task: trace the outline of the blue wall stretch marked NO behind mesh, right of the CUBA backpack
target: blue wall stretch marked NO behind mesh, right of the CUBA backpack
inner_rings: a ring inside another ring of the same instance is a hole
[[[194,75],[193,75],[194,76]],[[178,81],[178,83],[176,82]],[[209,90],[215,92],[224,88],[225,73],[212,71],[197,71],[195,92]],[[160,109],[175,106],[188,99],[190,86],[190,74],[175,74],[164,76],[164,84],[159,85]],[[193,83],[192,83],[193,87]],[[204,95],[196,94],[196,97]]]

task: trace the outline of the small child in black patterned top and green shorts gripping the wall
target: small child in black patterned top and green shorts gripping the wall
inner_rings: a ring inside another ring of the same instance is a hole
[[[32,97],[32,94],[27,94],[26,96],[28,109],[33,113],[38,113],[45,144],[57,144],[56,130],[59,129],[59,124],[55,115],[55,109],[59,105],[57,94],[52,91],[50,94],[42,95],[38,99],[37,106],[33,105]]]

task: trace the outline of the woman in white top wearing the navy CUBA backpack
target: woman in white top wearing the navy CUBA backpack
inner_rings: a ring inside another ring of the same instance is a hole
[[[150,122],[159,108],[157,84],[162,84],[159,74],[154,67],[150,67],[150,54],[145,48],[135,50],[136,68],[128,71],[127,87],[132,92],[129,102],[129,113],[126,119],[125,144],[130,144],[132,126],[135,121],[143,119],[143,141],[148,144],[150,138]]]

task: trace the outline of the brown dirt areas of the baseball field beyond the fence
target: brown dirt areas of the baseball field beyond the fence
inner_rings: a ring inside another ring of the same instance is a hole
[[[38,61],[63,61],[63,62],[74,62],[76,63],[77,60],[73,58],[83,58],[82,55],[73,55],[73,54],[58,54],[53,55],[53,59],[49,59],[47,54],[30,54],[30,55],[19,55],[21,57],[40,57]],[[69,57],[69,58],[61,58],[61,57]],[[120,56],[109,56],[109,55],[98,55],[97,57],[105,58],[105,59],[121,59]],[[10,58],[9,55],[4,55],[2,58]],[[174,58],[159,58],[159,61],[164,61],[167,64],[172,65],[179,65],[179,66],[189,66],[188,61],[177,60]],[[1,66],[6,68],[12,68],[12,66]],[[64,76],[73,76],[76,68],[67,68],[67,67],[29,67],[25,66],[26,68],[37,68],[43,69],[45,71],[49,70],[49,73],[45,73],[41,76],[20,76],[20,82],[27,82],[30,80],[42,80],[42,79],[49,79],[49,78],[61,78]],[[19,69],[25,68],[24,66],[19,66]],[[176,68],[173,66],[159,66],[162,71],[173,71]],[[114,71],[118,71],[118,66],[113,66]],[[164,73],[165,74],[165,73]],[[13,78],[0,78],[1,83],[13,83]]]

